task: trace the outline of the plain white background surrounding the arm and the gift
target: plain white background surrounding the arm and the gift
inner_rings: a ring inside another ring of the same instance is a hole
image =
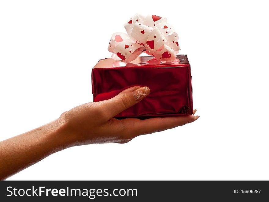
[[[9,180],[269,180],[266,1],[1,1],[0,140],[93,100],[91,69],[135,13],[167,17],[188,54],[192,124],[72,147]]]

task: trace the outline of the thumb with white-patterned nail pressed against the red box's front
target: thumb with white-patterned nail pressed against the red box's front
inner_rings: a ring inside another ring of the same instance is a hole
[[[118,113],[140,102],[144,97],[149,95],[149,93],[150,89],[147,86],[134,86],[123,90],[115,97],[104,101],[103,107],[106,112],[109,113],[109,117],[112,118]]]

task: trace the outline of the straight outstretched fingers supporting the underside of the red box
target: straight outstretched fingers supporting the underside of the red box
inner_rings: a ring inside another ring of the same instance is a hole
[[[198,117],[199,118],[199,117]],[[134,138],[138,135],[149,134],[153,132],[163,131],[177,126],[182,126],[195,121],[197,118],[194,115],[188,116],[173,116],[164,118],[150,118],[139,120],[135,118],[123,119],[125,135],[127,138]]]

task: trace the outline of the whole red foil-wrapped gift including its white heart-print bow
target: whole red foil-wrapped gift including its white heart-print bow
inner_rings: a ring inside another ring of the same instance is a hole
[[[187,55],[177,55],[179,36],[167,19],[135,14],[124,23],[126,33],[109,41],[111,58],[92,69],[94,101],[110,99],[132,86],[148,86],[150,94],[116,118],[140,119],[193,113],[192,81]],[[142,52],[151,56],[138,57]]]

